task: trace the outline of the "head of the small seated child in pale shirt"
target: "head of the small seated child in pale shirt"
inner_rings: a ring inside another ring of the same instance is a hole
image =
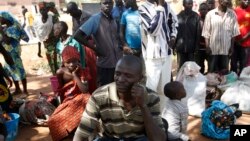
[[[173,81],[164,86],[164,94],[171,100],[181,100],[186,97],[186,91],[181,82]]]

